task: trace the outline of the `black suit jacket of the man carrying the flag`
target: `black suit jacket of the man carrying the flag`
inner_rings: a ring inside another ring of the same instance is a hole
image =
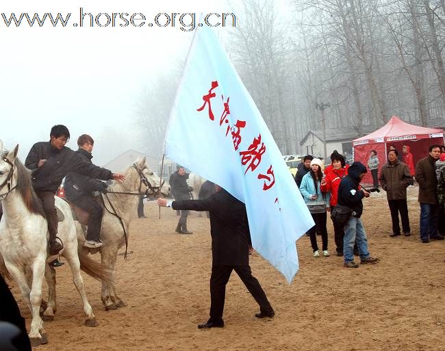
[[[249,265],[246,206],[225,190],[204,200],[173,201],[173,209],[209,211],[213,265]]]

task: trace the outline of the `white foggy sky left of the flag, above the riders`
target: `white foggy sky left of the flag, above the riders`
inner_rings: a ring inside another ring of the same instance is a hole
[[[95,14],[231,12],[229,5],[214,0],[14,1],[2,3],[0,12],[77,16],[81,6]],[[32,144],[49,140],[51,127],[63,124],[73,149],[80,134],[92,135],[98,165],[129,148],[140,150],[133,124],[138,97],[158,72],[183,60],[193,35],[179,27],[22,26],[0,25],[0,140],[5,148],[19,144],[24,160]]]

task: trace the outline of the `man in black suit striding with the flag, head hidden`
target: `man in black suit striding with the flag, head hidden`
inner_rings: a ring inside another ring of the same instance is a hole
[[[212,235],[212,276],[210,277],[210,318],[198,328],[221,328],[224,326],[223,310],[225,287],[232,270],[240,276],[255,301],[259,304],[258,318],[273,317],[275,312],[249,265],[249,222],[246,207],[216,185],[216,192],[205,200],[179,200],[167,203],[157,200],[158,205],[173,209],[210,212],[210,233]]]

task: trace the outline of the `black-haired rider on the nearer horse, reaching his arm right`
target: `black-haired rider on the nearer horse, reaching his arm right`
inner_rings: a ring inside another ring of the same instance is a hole
[[[57,255],[63,246],[56,240],[58,216],[55,211],[54,195],[62,179],[68,172],[77,172],[92,178],[103,180],[125,179],[125,176],[110,170],[94,166],[81,159],[78,153],[65,146],[70,132],[64,125],[51,128],[49,142],[38,142],[31,147],[25,166],[31,170],[32,185],[37,196],[42,200],[47,216],[49,231],[49,253]]]

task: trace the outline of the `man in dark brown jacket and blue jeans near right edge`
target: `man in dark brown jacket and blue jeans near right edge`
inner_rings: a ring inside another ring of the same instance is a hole
[[[437,232],[439,200],[437,199],[437,178],[435,161],[440,157],[440,145],[431,145],[429,155],[416,164],[416,181],[419,184],[420,203],[420,240],[429,243],[429,239],[443,240]]]

